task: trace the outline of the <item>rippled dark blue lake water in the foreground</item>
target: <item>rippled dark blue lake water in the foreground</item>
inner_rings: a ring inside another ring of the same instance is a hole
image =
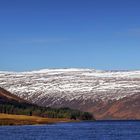
[[[140,140],[140,121],[2,126],[0,140]]]

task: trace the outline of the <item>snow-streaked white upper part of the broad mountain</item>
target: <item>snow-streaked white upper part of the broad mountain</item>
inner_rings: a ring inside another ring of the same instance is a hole
[[[0,72],[0,86],[34,103],[113,100],[140,93],[140,71],[43,69]]]

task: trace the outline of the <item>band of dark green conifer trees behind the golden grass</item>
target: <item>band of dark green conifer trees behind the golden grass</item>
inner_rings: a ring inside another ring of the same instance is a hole
[[[68,118],[73,120],[93,120],[92,114],[70,108],[39,107],[29,103],[0,100],[0,113],[40,116],[44,118]]]

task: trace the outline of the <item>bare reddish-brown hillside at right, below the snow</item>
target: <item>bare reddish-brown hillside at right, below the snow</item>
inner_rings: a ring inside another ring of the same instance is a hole
[[[140,120],[140,94],[100,103],[91,107],[96,119],[138,119]]]

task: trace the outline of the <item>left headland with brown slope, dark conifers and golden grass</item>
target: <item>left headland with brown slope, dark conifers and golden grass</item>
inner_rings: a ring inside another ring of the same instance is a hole
[[[31,125],[93,120],[92,114],[70,108],[45,108],[30,104],[0,88],[0,125]]]

